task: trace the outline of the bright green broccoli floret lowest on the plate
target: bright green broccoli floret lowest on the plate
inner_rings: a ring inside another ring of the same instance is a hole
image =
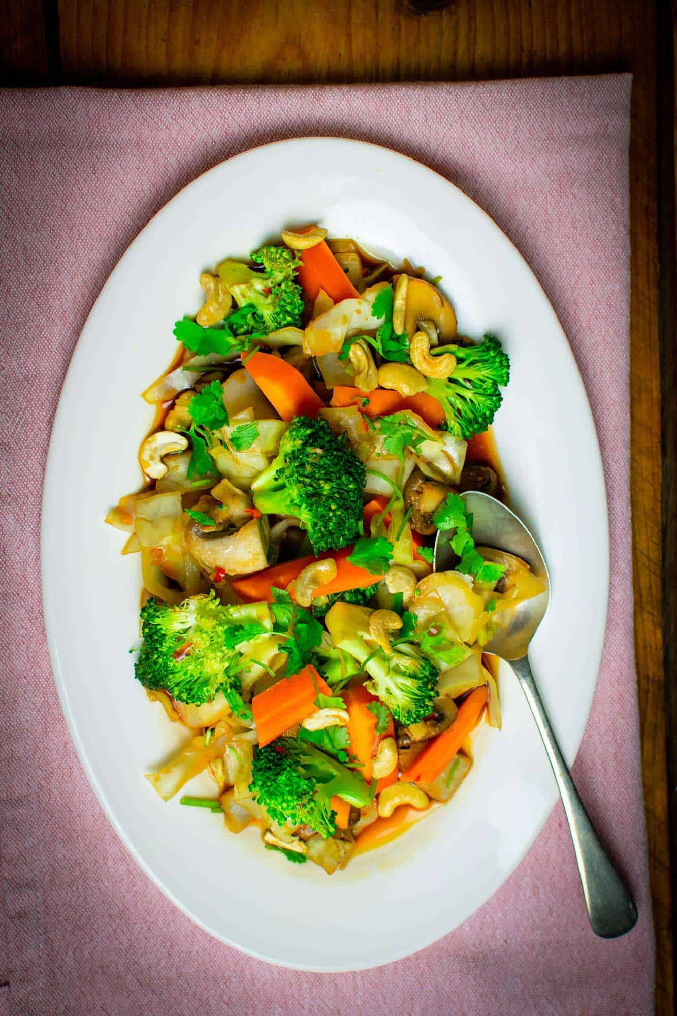
[[[273,822],[310,826],[324,839],[336,831],[333,795],[363,808],[375,789],[336,759],[296,738],[278,738],[256,749],[251,774],[252,797]]]

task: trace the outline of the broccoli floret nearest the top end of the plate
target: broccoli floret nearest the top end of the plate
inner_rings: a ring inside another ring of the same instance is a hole
[[[234,335],[265,335],[289,326],[299,327],[304,311],[301,287],[293,281],[298,257],[286,247],[261,247],[252,260],[263,271],[252,271],[239,261],[223,261],[219,273],[240,308],[226,318]]]

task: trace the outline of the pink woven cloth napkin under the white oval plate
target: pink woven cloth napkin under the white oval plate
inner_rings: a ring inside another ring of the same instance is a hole
[[[41,1016],[652,1011],[628,496],[629,96],[624,75],[0,92],[0,1012],[2,1004]],[[165,899],[80,769],[52,683],[39,581],[43,468],[70,355],[117,259],[180,187],[253,145],[312,134],[395,148],[474,197],[534,268],[577,358],[606,469],[612,585],[574,775],[639,907],[625,938],[606,942],[590,930],[557,805],[512,877],[442,941],[361,973],[278,969],[210,939]]]

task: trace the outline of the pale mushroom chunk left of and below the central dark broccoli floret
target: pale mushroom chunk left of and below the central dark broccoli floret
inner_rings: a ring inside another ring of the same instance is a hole
[[[227,575],[249,575],[266,568],[269,545],[265,517],[253,518],[237,532],[202,532],[199,525],[186,529],[186,547],[202,570],[223,568]]]

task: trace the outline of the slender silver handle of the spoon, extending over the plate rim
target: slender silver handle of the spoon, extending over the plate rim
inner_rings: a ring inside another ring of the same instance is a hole
[[[586,907],[593,931],[605,939],[624,935],[634,927],[637,908],[620,876],[611,864],[578,797],[573,780],[557,744],[545,711],[527,656],[511,661],[527,701],[534,713],[543,744],[550,759],[569,824],[573,849],[578,864]]]

